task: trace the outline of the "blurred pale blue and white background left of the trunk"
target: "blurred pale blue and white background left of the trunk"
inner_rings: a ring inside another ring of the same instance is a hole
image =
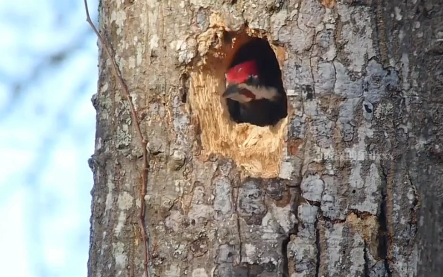
[[[83,0],[0,0],[0,276],[87,273],[98,72],[85,19]]]

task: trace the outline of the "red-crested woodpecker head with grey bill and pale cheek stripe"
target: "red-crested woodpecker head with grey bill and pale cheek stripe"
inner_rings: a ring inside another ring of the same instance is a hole
[[[278,91],[260,82],[258,67],[254,60],[242,62],[226,72],[226,90],[223,97],[247,103],[252,100],[275,100]]]

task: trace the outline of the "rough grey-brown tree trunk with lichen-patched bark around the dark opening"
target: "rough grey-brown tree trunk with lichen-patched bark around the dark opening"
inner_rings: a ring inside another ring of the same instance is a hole
[[[140,140],[100,47],[89,276],[144,276],[141,205],[152,277],[440,276],[442,1],[99,9],[150,162],[140,203]],[[225,31],[276,53],[288,95],[276,126],[229,120]]]

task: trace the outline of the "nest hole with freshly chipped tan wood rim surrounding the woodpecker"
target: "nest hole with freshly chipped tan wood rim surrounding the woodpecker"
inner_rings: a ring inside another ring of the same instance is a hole
[[[202,158],[221,154],[243,167],[248,176],[275,178],[280,173],[288,126],[288,103],[279,65],[285,59],[284,48],[271,46],[265,38],[246,31],[224,32],[219,42],[217,51],[209,52],[206,62],[189,75],[188,101],[194,125],[200,126]],[[267,113],[265,125],[239,121],[236,107],[221,97],[226,70],[249,59],[257,62],[259,74],[264,76],[262,83],[281,88],[284,94],[279,106]]]

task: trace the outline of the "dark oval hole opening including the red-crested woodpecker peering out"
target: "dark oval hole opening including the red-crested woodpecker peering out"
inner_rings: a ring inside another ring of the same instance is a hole
[[[287,116],[287,99],[275,54],[263,39],[241,47],[225,74],[231,118],[253,125],[275,125]]]

